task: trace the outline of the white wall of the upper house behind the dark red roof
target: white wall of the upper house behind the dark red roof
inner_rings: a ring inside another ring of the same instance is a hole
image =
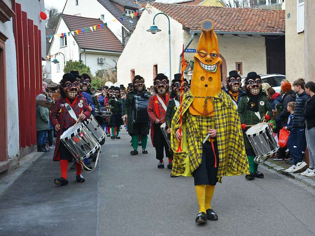
[[[78,15],[82,17],[100,18],[100,15],[105,16],[104,22],[108,22],[116,19],[102,4],[97,0],[83,0],[78,2],[76,6],[74,0],[68,0],[63,10],[63,14]],[[89,27],[92,25],[86,25]],[[116,35],[116,37],[122,42],[122,24],[116,20],[116,22],[110,22],[107,24],[108,28]]]

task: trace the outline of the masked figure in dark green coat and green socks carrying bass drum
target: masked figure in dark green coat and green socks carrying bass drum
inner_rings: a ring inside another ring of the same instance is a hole
[[[139,135],[142,140],[142,153],[147,154],[148,151],[146,150],[146,143],[148,140],[147,135],[149,134],[149,123],[132,123],[131,112],[134,109],[135,95],[141,95],[141,97],[147,98],[149,98],[150,95],[148,92],[144,91],[145,86],[143,77],[137,75],[132,82],[134,89],[127,94],[126,100],[123,104],[123,118],[127,118],[128,133],[131,136],[133,147],[130,155],[138,154]]]

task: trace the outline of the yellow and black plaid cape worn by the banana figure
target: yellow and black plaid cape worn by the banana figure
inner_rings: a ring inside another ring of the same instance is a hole
[[[190,91],[183,97],[182,112],[182,152],[176,152],[178,141],[175,136],[179,128],[180,109],[177,109],[172,120],[171,144],[174,151],[172,175],[192,176],[202,160],[202,141],[197,116],[191,115],[189,106],[194,97]],[[249,164],[244,148],[243,133],[238,111],[230,96],[221,90],[211,98],[215,112],[215,129],[217,131],[217,145],[219,150],[218,182],[223,176],[249,174]]]

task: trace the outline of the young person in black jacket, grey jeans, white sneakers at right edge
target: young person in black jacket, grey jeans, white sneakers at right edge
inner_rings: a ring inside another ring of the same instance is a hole
[[[314,177],[315,176],[315,83],[313,81],[305,84],[305,92],[311,96],[305,103],[303,115],[305,117],[305,136],[310,159],[310,166],[301,175]]]

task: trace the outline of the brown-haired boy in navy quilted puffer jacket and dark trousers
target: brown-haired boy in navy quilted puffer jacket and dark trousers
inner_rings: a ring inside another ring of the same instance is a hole
[[[306,149],[303,108],[309,96],[305,93],[304,85],[305,81],[303,79],[297,79],[293,83],[297,95],[295,99],[292,129],[287,142],[287,147],[293,158],[293,160],[288,162],[288,164],[292,164],[292,166],[285,170],[285,172],[288,173],[297,173],[307,166],[306,162],[303,161]]]

